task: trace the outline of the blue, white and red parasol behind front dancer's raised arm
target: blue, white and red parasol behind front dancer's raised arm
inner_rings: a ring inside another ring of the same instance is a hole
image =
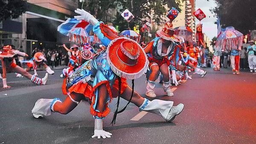
[[[70,41],[76,43],[87,43],[90,41],[87,40],[87,37],[92,29],[93,26],[90,23],[84,20],[76,20],[75,18],[68,18],[58,26],[58,32],[69,36]]]

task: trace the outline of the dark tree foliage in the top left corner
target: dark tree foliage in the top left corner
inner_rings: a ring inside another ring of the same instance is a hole
[[[26,11],[26,0],[0,0],[0,21],[17,18]]]

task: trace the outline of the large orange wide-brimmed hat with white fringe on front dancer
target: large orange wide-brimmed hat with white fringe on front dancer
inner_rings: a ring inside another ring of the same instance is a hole
[[[148,59],[143,48],[128,37],[111,41],[107,48],[107,60],[111,70],[126,79],[140,78],[148,68]]]

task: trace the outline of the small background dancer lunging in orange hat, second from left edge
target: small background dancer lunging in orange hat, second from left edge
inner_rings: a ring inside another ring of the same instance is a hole
[[[47,66],[46,61],[47,60],[44,57],[44,54],[42,52],[36,52],[34,57],[31,60],[25,60],[25,61],[22,61],[22,63],[27,63],[27,66],[28,66],[26,68],[27,72],[29,72],[33,68],[35,76],[38,75],[36,70],[39,65],[43,65],[44,68],[46,69],[46,72],[48,72],[50,75],[53,75],[54,71],[49,66]],[[19,77],[19,75],[17,74],[17,77]]]

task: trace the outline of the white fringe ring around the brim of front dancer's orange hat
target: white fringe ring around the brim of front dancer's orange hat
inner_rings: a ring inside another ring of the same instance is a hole
[[[147,59],[147,56],[145,54],[145,52],[143,51],[143,54],[145,56],[145,65],[143,67],[143,69],[141,69],[139,72],[136,72],[136,73],[126,73],[126,72],[123,72],[121,70],[119,70],[118,68],[116,68],[116,66],[113,65],[113,63],[111,62],[110,58],[108,57],[109,55],[109,48],[110,46],[113,45],[114,42],[116,42],[117,40],[119,39],[126,39],[126,40],[131,40],[130,38],[128,37],[119,37],[119,38],[115,38],[114,40],[112,40],[109,44],[108,44],[108,47],[107,47],[107,61],[108,61],[108,64],[111,68],[111,70],[116,74],[118,75],[119,77],[122,77],[122,78],[126,78],[126,79],[137,79],[137,78],[140,78],[144,73],[147,72],[147,69],[148,69],[148,64],[149,64],[149,61]],[[134,41],[136,42],[135,40],[131,40],[131,41]],[[137,43],[137,42],[136,42]],[[139,45],[140,46],[140,45]],[[141,46],[140,46],[140,49]]]

